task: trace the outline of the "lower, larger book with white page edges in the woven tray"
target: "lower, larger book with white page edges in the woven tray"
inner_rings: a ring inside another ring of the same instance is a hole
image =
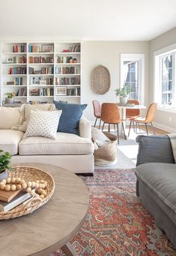
[[[0,201],[0,211],[1,212],[7,212],[10,211],[10,209],[13,209],[16,206],[19,206],[19,204],[25,202],[31,197],[30,193],[27,193],[23,190],[16,190],[16,191],[4,191],[3,192],[18,192],[10,201]]]

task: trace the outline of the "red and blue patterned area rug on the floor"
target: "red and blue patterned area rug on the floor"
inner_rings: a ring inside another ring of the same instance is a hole
[[[70,241],[78,255],[176,255],[136,197],[133,170],[98,169],[94,177],[82,180],[90,191],[90,210],[82,229]]]

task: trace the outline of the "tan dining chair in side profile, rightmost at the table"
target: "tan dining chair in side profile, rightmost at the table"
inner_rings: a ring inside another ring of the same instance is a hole
[[[153,126],[152,122],[153,122],[153,120],[155,118],[156,111],[157,111],[157,103],[152,103],[148,107],[148,112],[147,112],[145,117],[133,117],[133,118],[130,118],[130,127],[129,127],[128,136],[130,136],[130,129],[131,129],[132,122],[144,123],[147,134],[148,134],[148,123],[151,123],[151,128],[152,128],[153,133],[155,135],[154,126]]]

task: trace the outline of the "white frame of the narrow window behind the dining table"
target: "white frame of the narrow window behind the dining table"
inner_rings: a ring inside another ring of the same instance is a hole
[[[123,73],[124,61],[139,61],[139,102],[145,102],[145,53],[121,53],[121,88],[124,86]]]

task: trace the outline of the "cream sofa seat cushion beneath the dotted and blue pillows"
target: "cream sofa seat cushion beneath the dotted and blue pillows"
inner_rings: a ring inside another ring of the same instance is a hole
[[[57,133],[56,139],[28,137],[19,143],[20,155],[34,154],[93,154],[91,139],[71,133]]]

